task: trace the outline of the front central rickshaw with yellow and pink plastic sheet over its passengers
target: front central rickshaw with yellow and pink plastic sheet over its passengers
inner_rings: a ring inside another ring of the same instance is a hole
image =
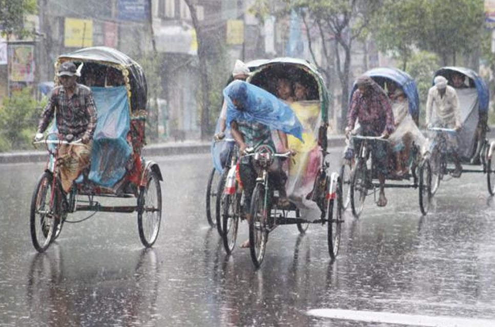
[[[328,253],[335,260],[343,222],[339,177],[337,173],[328,172],[329,163],[325,160],[328,94],[323,78],[316,67],[307,61],[283,57],[261,63],[248,77],[248,82],[276,95],[279,78],[288,79],[293,84],[299,82],[306,88],[304,100],[287,103],[303,126],[304,142],[288,135],[288,147],[296,151],[294,157],[284,161],[288,171],[285,188],[291,202],[288,208],[279,205],[278,192],[267,178],[267,170],[275,157],[287,158],[289,155],[264,146],[245,154],[253,157],[252,162],[258,173],[249,212],[252,217],[249,221],[250,254],[256,268],[263,261],[269,233],[283,224],[296,224],[300,233],[305,233],[310,223],[326,224]],[[276,134],[275,131],[272,133],[275,144]],[[228,178],[223,191],[230,193],[234,186],[239,194],[226,198],[223,203],[222,237],[228,254],[234,249],[238,223],[243,219],[241,210],[236,210],[242,202],[239,182],[236,178]]]

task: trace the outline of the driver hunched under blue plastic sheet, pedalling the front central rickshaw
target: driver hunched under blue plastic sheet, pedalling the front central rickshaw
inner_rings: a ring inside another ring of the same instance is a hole
[[[280,151],[287,152],[287,135],[284,129],[301,137],[302,127],[290,107],[277,100],[271,93],[245,83],[234,81],[223,90],[224,97],[229,97],[230,104],[227,109],[227,122],[230,124],[232,136],[239,146],[242,155],[247,148],[256,148],[266,145],[275,149],[272,139],[271,128],[276,129],[282,143]],[[285,116],[287,122],[277,119]],[[251,195],[256,185],[257,173],[252,164],[251,157],[241,157],[239,165],[239,177],[244,188],[244,212],[246,219],[251,217],[247,214],[251,206]],[[270,167],[270,178],[275,189],[279,191],[279,205],[287,207],[290,202],[285,192],[286,176],[281,170],[280,160],[275,158]],[[241,247],[249,247],[249,241],[244,242]]]

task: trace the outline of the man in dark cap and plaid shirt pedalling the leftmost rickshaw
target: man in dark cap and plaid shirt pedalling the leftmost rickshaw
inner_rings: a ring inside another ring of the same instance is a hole
[[[58,133],[65,140],[82,140],[83,145],[63,145],[59,149],[60,181],[67,193],[72,182],[89,166],[97,116],[91,90],[76,83],[76,66],[72,62],[60,65],[58,79],[60,86],[53,89],[48,99],[34,139],[43,138],[43,132],[56,115]]]

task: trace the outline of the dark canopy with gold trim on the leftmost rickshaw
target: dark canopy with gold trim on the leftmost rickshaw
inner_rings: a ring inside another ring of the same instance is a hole
[[[103,66],[111,66],[122,72],[125,85],[128,88],[130,109],[135,115],[138,111],[147,109],[147,84],[142,67],[128,55],[109,47],[89,47],[58,56],[56,67],[72,61],[76,65],[80,63],[94,63]],[[84,75],[84,69],[83,69]]]

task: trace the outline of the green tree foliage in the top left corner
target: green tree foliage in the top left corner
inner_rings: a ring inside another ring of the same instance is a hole
[[[4,33],[24,36],[24,15],[36,13],[36,0],[0,0],[0,26]]]

